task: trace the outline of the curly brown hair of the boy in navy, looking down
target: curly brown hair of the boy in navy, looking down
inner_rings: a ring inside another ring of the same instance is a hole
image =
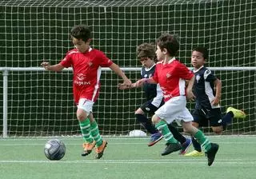
[[[137,46],[136,50],[137,58],[155,58],[155,46],[152,43],[142,43]]]

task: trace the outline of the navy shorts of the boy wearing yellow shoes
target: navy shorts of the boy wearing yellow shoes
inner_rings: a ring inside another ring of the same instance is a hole
[[[222,125],[222,112],[220,108],[215,109],[194,109],[192,116],[194,122],[199,126],[220,126]]]

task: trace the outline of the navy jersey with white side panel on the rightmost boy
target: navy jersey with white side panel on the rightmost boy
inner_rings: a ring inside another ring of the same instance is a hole
[[[214,109],[220,108],[220,105],[211,105],[210,101],[214,100],[215,90],[214,81],[217,79],[214,74],[202,66],[198,70],[193,70],[195,80],[193,93],[196,97],[196,109]]]

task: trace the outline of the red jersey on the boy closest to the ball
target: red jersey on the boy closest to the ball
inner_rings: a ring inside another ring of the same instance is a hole
[[[109,67],[113,62],[100,50],[90,48],[86,53],[70,50],[60,64],[73,68],[74,102],[80,98],[96,101],[100,89],[101,67]]]

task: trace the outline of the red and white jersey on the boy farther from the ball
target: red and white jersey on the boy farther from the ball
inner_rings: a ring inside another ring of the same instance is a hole
[[[153,79],[159,83],[164,101],[168,101],[171,97],[186,96],[186,80],[193,76],[192,71],[173,58],[167,64],[158,62]]]

